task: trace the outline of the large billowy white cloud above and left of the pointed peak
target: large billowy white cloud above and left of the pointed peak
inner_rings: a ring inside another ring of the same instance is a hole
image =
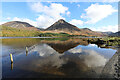
[[[39,14],[36,19],[38,26],[47,28],[59,19],[64,19],[63,15],[69,15],[68,8],[59,3],[50,3],[49,6],[42,3],[34,3],[31,9]]]

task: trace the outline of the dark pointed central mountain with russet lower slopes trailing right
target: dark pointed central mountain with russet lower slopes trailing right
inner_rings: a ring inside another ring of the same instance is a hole
[[[83,35],[83,36],[104,36],[103,33],[95,32],[89,28],[79,29],[78,27],[66,22],[63,19],[58,20],[53,25],[45,29],[46,32],[57,32],[57,33],[68,33],[72,35]]]

